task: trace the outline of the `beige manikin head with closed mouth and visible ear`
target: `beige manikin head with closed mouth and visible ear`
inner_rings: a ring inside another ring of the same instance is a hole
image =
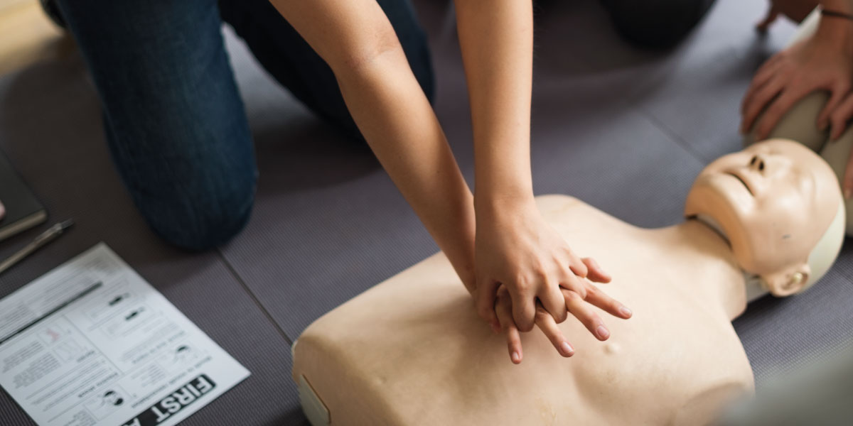
[[[708,164],[688,193],[685,215],[714,222],[740,268],[774,296],[814,284],[844,239],[844,203],[833,170],[808,147],[783,139]]]

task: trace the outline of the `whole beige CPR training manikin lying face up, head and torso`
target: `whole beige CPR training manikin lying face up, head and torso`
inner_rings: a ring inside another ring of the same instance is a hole
[[[560,329],[572,358],[542,333],[524,333],[524,362],[514,365],[438,253],[299,337],[293,378],[311,421],[708,423],[753,389],[731,325],[747,294],[803,291],[829,268],[844,233],[833,170],[784,140],[710,164],[688,193],[688,219],[672,227],[635,227],[561,195],[537,201],[573,250],[612,274],[599,287],[633,309],[630,320],[607,321],[611,337],[600,342],[570,317]]]

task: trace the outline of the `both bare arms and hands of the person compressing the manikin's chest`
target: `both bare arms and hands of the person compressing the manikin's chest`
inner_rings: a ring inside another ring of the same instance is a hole
[[[476,214],[432,107],[379,5],[272,3],[332,68],[359,130],[493,327],[501,327],[494,311],[498,282],[512,294],[514,320],[522,330],[532,328],[537,298],[557,322],[565,320],[560,286],[583,299],[587,285],[575,273],[585,277],[586,262],[595,262],[575,256],[533,201],[531,1],[456,0],[478,157]],[[475,247],[483,249],[475,255]],[[609,280],[601,268],[595,271],[595,280]],[[481,280],[488,285],[475,289],[475,275],[478,285]]]

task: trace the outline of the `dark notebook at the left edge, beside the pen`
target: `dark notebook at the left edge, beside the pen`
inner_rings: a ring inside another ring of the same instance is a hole
[[[0,153],[0,203],[6,208],[6,215],[0,219],[0,240],[26,231],[48,218],[44,205],[38,202],[3,153]]]

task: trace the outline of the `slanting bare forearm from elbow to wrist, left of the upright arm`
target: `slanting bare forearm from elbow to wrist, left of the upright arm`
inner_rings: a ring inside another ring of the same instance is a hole
[[[338,81],[376,157],[471,291],[473,197],[402,51]]]

